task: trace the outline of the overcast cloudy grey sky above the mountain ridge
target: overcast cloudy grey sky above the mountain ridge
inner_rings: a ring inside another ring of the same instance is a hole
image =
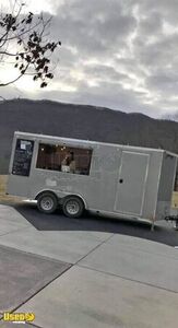
[[[55,78],[40,89],[25,77],[1,87],[1,96],[88,104],[151,117],[178,112],[178,0],[26,4],[34,13],[52,15],[50,37],[62,44],[54,58]],[[0,66],[0,80],[13,74],[10,65]]]

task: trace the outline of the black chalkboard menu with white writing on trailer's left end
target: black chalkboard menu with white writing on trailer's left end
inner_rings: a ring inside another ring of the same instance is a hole
[[[33,149],[34,141],[22,139],[16,140],[12,174],[22,176],[29,175]]]

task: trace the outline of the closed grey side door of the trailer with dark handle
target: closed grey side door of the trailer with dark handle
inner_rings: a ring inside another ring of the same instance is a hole
[[[149,154],[122,152],[115,211],[126,214],[142,214],[149,161]]]

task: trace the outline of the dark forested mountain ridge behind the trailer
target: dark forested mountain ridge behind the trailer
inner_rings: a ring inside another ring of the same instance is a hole
[[[14,131],[26,131],[178,153],[178,122],[138,113],[50,101],[0,102],[0,174],[8,172]]]

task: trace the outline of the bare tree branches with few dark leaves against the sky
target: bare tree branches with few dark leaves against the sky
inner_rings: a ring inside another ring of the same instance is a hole
[[[11,59],[17,70],[15,79],[0,81],[0,86],[16,82],[25,74],[34,81],[40,81],[40,87],[47,86],[51,72],[51,55],[61,43],[48,40],[51,17],[33,12],[23,13],[24,3],[14,0],[13,10],[0,15],[0,65]]]

